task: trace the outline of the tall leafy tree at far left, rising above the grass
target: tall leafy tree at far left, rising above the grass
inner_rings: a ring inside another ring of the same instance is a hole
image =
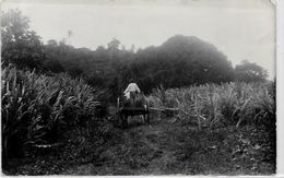
[[[2,63],[19,68],[40,69],[45,59],[40,37],[29,29],[29,20],[20,10],[2,14]]]

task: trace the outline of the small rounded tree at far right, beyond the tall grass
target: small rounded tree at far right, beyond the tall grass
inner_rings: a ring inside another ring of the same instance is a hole
[[[242,82],[262,82],[268,78],[268,71],[251,63],[248,60],[242,60],[240,64],[235,68],[235,80]]]

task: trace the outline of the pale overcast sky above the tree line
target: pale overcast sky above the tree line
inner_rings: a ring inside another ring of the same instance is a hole
[[[46,43],[72,31],[74,47],[92,50],[117,38],[126,48],[158,46],[174,35],[215,45],[233,66],[256,62],[275,75],[274,7],[269,0],[50,0],[2,2],[20,9]],[[82,3],[84,2],[84,3]]]

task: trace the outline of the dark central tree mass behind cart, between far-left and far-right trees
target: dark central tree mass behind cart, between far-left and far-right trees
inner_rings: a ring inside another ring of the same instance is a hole
[[[92,51],[50,40],[45,51],[62,66],[62,71],[83,76],[93,86],[108,88],[113,98],[122,93],[130,78],[145,93],[161,84],[169,88],[234,79],[227,57],[197,37],[176,35],[158,47],[137,52],[120,49],[119,45],[120,41],[114,39],[107,48]]]

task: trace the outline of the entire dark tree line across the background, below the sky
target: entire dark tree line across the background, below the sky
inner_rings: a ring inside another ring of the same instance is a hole
[[[165,88],[230,81],[265,81],[264,69],[247,60],[233,68],[214,45],[194,36],[175,35],[159,46],[126,49],[118,39],[95,50],[75,48],[66,40],[44,44],[19,10],[2,14],[2,66],[55,75],[66,72],[90,85],[120,95],[134,79],[144,93]]]

